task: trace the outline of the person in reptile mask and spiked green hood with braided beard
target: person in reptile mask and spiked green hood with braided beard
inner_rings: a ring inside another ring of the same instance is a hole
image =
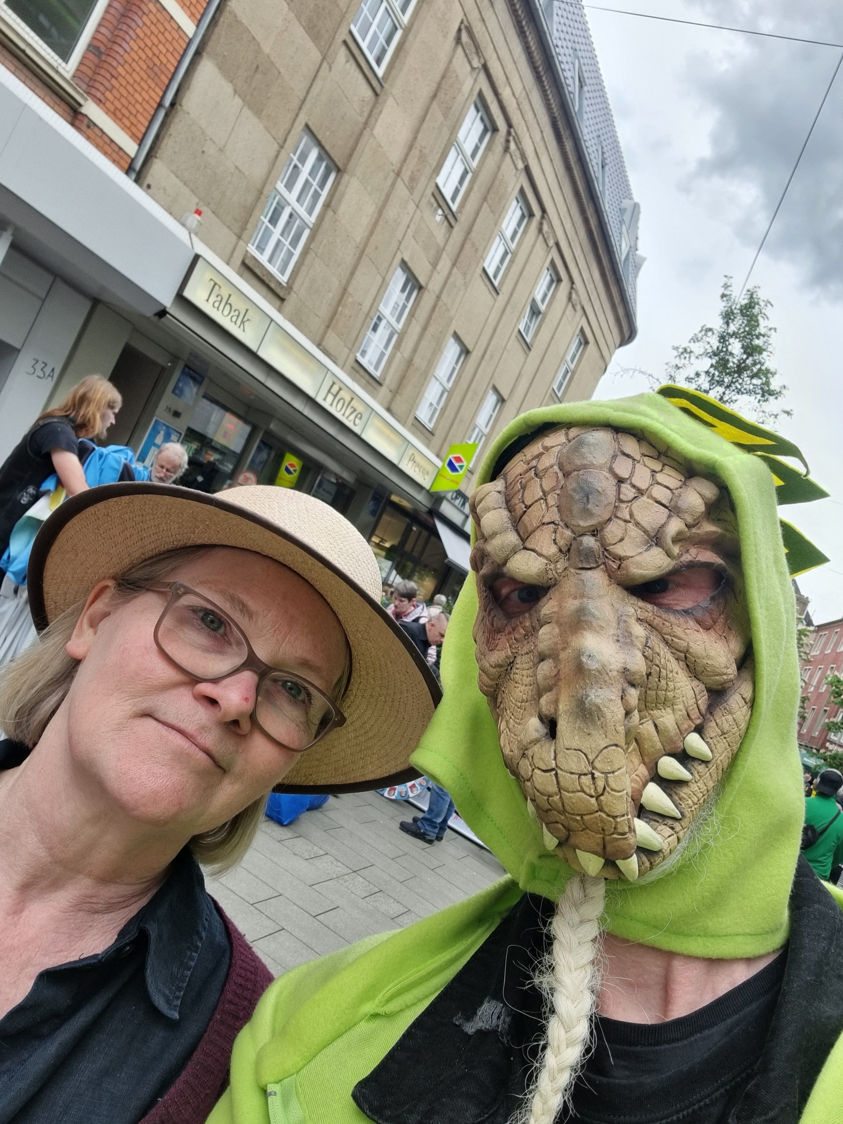
[[[516,419],[414,764],[508,877],[278,980],[210,1124],[843,1121],[843,895],[799,859],[769,430],[676,387]],[[783,544],[783,545],[782,545]]]

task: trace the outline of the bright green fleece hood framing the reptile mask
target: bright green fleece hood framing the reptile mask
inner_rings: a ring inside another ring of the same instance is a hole
[[[716,813],[658,880],[607,883],[608,928],[695,957],[755,957],[780,948],[788,935],[803,791],[796,609],[770,468],[664,398],[640,395],[523,415],[489,450],[477,484],[490,479],[508,446],[549,425],[610,426],[644,437],[727,488],[737,515],[752,629],[752,719],[722,781]],[[541,826],[531,819],[504,763],[495,719],[478,688],[471,635],[477,608],[470,574],[443,650],[444,698],[411,760],[450,790],[460,814],[522,889],[555,899],[573,871],[545,850]]]

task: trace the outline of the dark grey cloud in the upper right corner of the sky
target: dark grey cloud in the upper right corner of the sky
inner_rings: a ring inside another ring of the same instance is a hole
[[[696,0],[699,17],[843,43],[840,0]],[[700,31],[700,36],[717,35]],[[728,36],[697,54],[688,81],[714,115],[710,152],[689,179],[749,247],[776,208],[840,53]],[[700,43],[708,42],[700,39]],[[713,62],[713,58],[716,60]],[[815,290],[843,298],[843,67],[764,253],[797,265]],[[743,280],[736,279],[737,283]]]

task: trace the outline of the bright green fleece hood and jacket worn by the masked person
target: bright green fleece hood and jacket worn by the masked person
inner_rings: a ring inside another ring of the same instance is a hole
[[[799,674],[796,610],[770,470],[664,399],[573,402],[516,419],[489,450],[478,483],[502,451],[549,423],[608,425],[650,441],[723,482],[737,513],[755,656],[752,720],[726,774],[710,840],[649,885],[610,883],[609,928],[671,951],[753,957],[788,934],[788,894],[803,822],[796,749]],[[209,1124],[364,1124],[351,1099],[413,1019],[439,992],[525,889],[556,898],[570,870],[545,851],[517,782],[504,765],[495,723],[477,687],[465,582],[443,652],[444,699],[414,754],[446,786],[460,813],[508,878],[386,937],[373,937],[279,979],[241,1032],[232,1084]],[[843,895],[834,891],[843,901]],[[839,1043],[801,1124],[843,1124]]]

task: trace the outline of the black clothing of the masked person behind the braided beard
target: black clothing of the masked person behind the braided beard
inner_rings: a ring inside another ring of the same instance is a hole
[[[533,972],[553,905],[525,895],[353,1093],[375,1124],[508,1124],[544,1040]],[[840,906],[799,860],[790,940],[683,1018],[595,1019],[559,1124],[797,1124],[843,1031]]]

